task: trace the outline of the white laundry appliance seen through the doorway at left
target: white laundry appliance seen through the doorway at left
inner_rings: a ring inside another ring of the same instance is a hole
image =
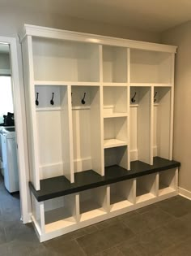
[[[6,189],[13,193],[19,191],[15,128],[2,128],[1,141],[4,184]]]

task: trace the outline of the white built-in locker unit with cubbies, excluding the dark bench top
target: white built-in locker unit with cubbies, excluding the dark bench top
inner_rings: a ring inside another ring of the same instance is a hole
[[[36,191],[48,178],[172,160],[176,46],[32,25],[20,41]],[[45,241],[176,194],[177,168],[40,202],[32,193],[32,221]]]

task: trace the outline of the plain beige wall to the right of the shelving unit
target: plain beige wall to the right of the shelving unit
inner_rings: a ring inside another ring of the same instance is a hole
[[[179,186],[191,192],[191,21],[162,34],[163,43],[178,46],[175,69],[173,158],[180,161]],[[187,194],[188,196],[188,194]]]

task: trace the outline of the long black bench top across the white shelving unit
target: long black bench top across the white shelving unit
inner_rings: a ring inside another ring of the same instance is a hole
[[[87,189],[94,189],[106,184],[116,183],[122,180],[129,180],[139,176],[145,176],[158,171],[180,167],[180,163],[164,158],[155,157],[153,165],[133,161],[130,163],[131,170],[113,165],[105,167],[105,175],[100,176],[96,171],[88,170],[74,174],[74,183],[70,183],[65,176],[57,176],[45,180],[40,180],[40,190],[33,187],[29,182],[29,187],[38,202],[42,202],[55,197],[61,197],[70,193],[77,193]]]

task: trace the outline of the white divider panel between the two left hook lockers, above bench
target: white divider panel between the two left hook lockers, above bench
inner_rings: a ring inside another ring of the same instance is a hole
[[[62,161],[63,175],[74,182],[71,86],[61,88]],[[56,131],[55,131],[56,132]],[[56,134],[55,134],[56,135]]]

